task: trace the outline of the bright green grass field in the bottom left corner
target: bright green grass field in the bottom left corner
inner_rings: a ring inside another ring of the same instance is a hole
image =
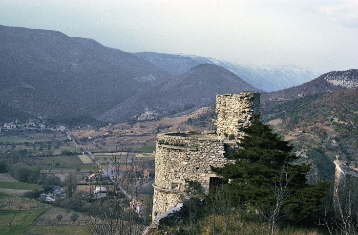
[[[48,208],[10,211],[0,210],[0,235],[23,234],[31,223]]]

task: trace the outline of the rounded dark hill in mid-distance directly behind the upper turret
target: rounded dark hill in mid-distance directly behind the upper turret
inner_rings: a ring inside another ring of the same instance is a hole
[[[202,64],[168,81],[158,92],[135,95],[100,117],[118,122],[135,116],[146,108],[160,114],[175,114],[194,107],[210,105],[216,94],[256,91],[232,72],[210,64]],[[135,105],[137,104],[137,105]]]

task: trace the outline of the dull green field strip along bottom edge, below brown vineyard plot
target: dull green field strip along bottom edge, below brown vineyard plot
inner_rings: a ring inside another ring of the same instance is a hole
[[[85,225],[55,225],[55,226],[30,226],[27,233],[34,235],[88,235],[89,232]]]

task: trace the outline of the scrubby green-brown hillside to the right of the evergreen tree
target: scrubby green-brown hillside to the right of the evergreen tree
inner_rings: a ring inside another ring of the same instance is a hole
[[[346,94],[355,94],[347,92]],[[334,178],[336,156],[358,161],[357,136],[335,116],[336,102],[343,91],[310,94],[268,110],[263,118],[296,146],[297,152],[314,163],[318,174],[313,178]],[[358,103],[352,104],[356,106]],[[313,172],[312,172],[313,173]]]

